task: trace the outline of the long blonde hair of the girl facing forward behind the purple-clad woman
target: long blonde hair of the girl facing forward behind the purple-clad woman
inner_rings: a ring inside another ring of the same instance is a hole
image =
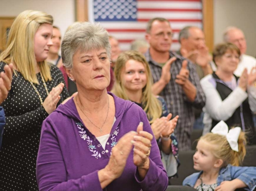
[[[154,120],[156,120],[162,115],[162,105],[160,101],[151,92],[151,86],[153,83],[151,71],[146,58],[141,53],[133,50],[120,53],[120,55],[117,58],[117,62],[114,69],[116,81],[114,83],[112,92],[120,98],[129,100],[129,97],[125,93],[124,86],[121,80],[121,73],[128,60],[136,60],[138,62],[141,62],[145,66],[147,83],[146,86],[142,89],[141,101],[144,107],[144,111],[147,113],[147,118],[150,120],[150,123],[153,123]]]

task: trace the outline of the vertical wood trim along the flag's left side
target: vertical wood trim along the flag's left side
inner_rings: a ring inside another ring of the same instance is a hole
[[[75,21],[88,21],[88,1],[75,0]]]

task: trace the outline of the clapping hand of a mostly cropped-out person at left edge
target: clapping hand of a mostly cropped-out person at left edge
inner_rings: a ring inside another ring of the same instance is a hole
[[[8,91],[11,90],[13,64],[5,65],[4,71],[0,73],[0,103],[7,98]]]

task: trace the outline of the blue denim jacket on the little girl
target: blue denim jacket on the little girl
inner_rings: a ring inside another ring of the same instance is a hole
[[[203,171],[193,173],[192,175],[185,178],[182,185],[194,187],[196,180],[201,176]],[[256,188],[256,167],[244,167],[244,166],[232,166],[227,165],[220,169],[217,184],[220,185],[223,181],[242,180],[248,187],[245,188],[247,191],[253,191]]]

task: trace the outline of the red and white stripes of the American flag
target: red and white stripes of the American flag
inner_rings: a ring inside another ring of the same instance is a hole
[[[117,38],[122,50],[130,49],[132,41],[145,38],[147,22],[154,17],[170,21],[174,32],[172,50],[179,49],[178,35],[184,26],[202,28],[201,0],[137,0],[137,8],[137,22],[101,22]]]

